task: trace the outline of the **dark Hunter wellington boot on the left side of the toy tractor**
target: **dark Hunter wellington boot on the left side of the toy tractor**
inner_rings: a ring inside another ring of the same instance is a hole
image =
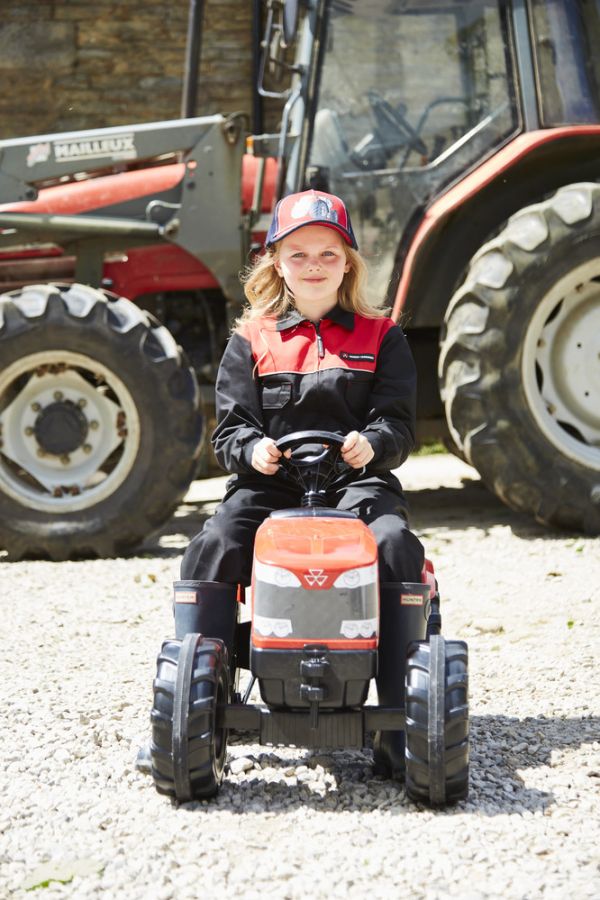
[[[234,663],[234,639],[237,623],[237,584],[217,581],[176,581],[173,615],[175,637],[182,641],[186,634],[198,632],[207,638],[219,638],[227,648],[227,657]],[[150,742],[138,750],[135,760],[138,772],[152,771]]]

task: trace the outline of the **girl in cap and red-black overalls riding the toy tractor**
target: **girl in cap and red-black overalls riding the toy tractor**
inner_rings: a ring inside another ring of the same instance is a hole
[[[300,501],[280,472],[275,441],[293,431],[337,432],[350,468],[327,499],[356,512],[377,540],[377,687],[380,703],[401,706],[406,644],[425,631],[423,610],[415,615],[401,602],[401,583],[421,579],[423,548],[390,472],[414,444],[415,367],[401,329],[366,303],[365,271],[342,200],[306,191],[277,204],[217,378],[213,445],[234,474],[183,557],[175,629],[177,638],[221,638],[231,652],[237,585],[250,584],[256,530],[273,510]],[[401,776],[402,734],[380,734],[375,755],[381,770]]]

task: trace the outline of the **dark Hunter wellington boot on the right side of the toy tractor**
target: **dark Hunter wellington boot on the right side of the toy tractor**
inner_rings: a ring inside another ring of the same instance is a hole
[[[425,638],[427,601],[422,584],[394,582],[380,585],[377,696],[380,706],[405,705],[406,648]],[[404,731],[378,731],[373,741],[377,774],[404,780]]]

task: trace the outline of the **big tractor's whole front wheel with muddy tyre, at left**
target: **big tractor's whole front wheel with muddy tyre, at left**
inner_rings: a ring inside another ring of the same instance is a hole
[[[0,548],[117,556],[173,512],[202,437],[193,371],[122,297],[42,284],[0,296]]]

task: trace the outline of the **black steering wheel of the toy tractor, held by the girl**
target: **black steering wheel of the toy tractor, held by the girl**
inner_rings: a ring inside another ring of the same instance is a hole
[[[315,498],[324,496],[336,478],[350,470],[340,454],[344,441],[343,435],[333,431],[294,431],[276,441],[275,446],[282,454],[291,450],[289,458],[281,456],[279,463],[305,496]],[[314,444],[321,444],[323,449],[307,447]]]

